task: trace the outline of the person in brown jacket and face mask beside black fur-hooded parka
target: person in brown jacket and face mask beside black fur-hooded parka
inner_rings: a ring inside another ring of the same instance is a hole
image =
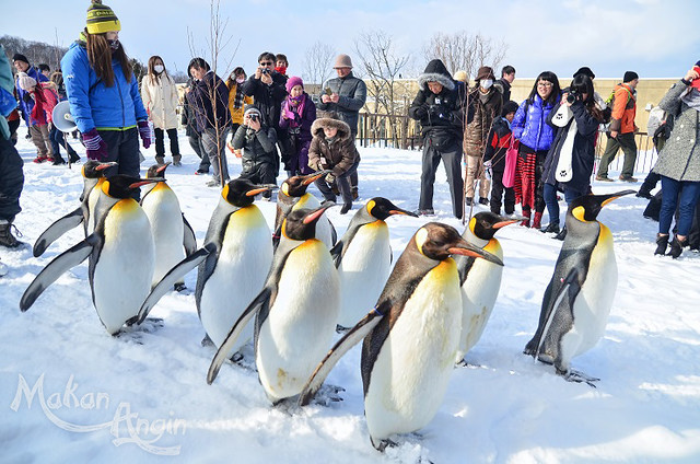
[[[467,178],[465,181],[467,206],[471,206],[474,202],[477,182],[479,182],[479,202],[481,205],[489,204],[491,183],[483,169],[483,152],[493,119],[501,115],[503,107],[501,92],[493,86],[494,79],[493,69],[482,66],[477,72],[476,84],[467,95],[467,104],[474,112],[474,118],[465,127],[463,141],[467,162]]]

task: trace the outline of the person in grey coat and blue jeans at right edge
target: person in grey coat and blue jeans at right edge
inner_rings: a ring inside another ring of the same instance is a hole
[[[662,186],[654,254],[666,253],[670,221],[678,205],[677,229],[669,252],[677,258],[688,245],[692,216],[700,198],[700,60],[670,88],[658,106],[674,116],[674,127],[654,166]]]

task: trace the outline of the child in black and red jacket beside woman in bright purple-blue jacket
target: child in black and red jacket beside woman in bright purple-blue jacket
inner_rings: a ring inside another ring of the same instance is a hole
[[[511,123],[517,112],[517,103],[508,102],[503,105],[501,117],[493,121],[491,131],[487,137],[487,146],[483,152],[483,167],[491,172],[491,212],[501,213],[501,199],[505,194],[504,209],[506,214],[515,212],[515,190],[513,186],[503,186],[503,173],[505,172],[505,152],[511,147]]]

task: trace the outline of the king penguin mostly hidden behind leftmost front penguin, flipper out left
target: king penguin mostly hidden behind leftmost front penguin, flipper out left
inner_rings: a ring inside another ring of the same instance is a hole
[[[51,243],[57,241],[60,236],[62,236],[66,232],[77,228],[81,223],[83,224],[83,229],[85,232],[85,236],[92,233],[92,229],[90,228],[90,218],[93,214],[95,201],[90,201],[92,192],[97,187],[97,192],[100,190],[100,185],[105,179],[104,171],[107,167],[116,166],[116,162],[101,163],[95,160],[88,160],[81,170],[83,175],[83,193],[80,196],[80,207],[58,219],[51,225],[49,225],[42,235],[34,243],[34,257],[39,257],[44,254],[46,248],[48,248]],[[93,198],[97,198],[97,193],[95,193]]]

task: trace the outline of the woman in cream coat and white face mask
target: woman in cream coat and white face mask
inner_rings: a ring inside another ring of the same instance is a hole
[[[155,132],[155,161],[165,163],[165,134],[171,140],[173,165],[182,166],[179,143],[177,142],[177,88],[158,55],[149,59],[149,73],[141,81],[141,98],[153,121]]]

